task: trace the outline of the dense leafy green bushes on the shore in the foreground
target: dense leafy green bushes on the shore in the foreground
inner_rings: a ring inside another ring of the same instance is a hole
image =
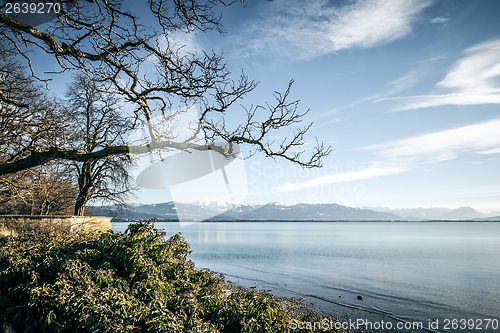
[[[195,269],[190,253],[182,236],[166,239],[152,221],[125,233],[0,237],[0,330],[290,332],[292,320],[333,320],[299,299]]]

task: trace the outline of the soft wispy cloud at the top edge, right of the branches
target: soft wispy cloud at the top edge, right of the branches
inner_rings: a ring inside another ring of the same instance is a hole
[[[326,1],[276,1],[241,35],[244,52],[310,59],[369,48],[408,35],[429,0],[358,0],[332,7]]]

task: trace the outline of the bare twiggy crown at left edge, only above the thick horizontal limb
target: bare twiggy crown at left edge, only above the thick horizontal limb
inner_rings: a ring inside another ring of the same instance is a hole
[[[23,165],[27,158],[65,144],[60,105],[25,72],[15,53],[0,42],[0,165],[18,163],[19,170],[32,166]],[[0,173],[0,180],[6,174]]]

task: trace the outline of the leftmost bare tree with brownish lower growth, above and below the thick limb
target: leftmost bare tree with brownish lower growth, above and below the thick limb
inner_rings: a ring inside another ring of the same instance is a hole
[[[0,163],[23,161],[67,141],[61,105],[25,72],[15,52],[0,43]],[[60,163],[1,175],[0,213],[68,213],[76,196],[71,178]]]

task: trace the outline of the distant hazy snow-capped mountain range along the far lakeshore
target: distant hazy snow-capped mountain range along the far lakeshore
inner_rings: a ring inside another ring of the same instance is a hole
[[[471,207],[404,208],[347,207],[338,204],[232,205],[225,202],[131,204],[126,210],[117,206],[90,207],[91,215],[110,216],[114,221],[425,221],[425,220],[500,220]]]

